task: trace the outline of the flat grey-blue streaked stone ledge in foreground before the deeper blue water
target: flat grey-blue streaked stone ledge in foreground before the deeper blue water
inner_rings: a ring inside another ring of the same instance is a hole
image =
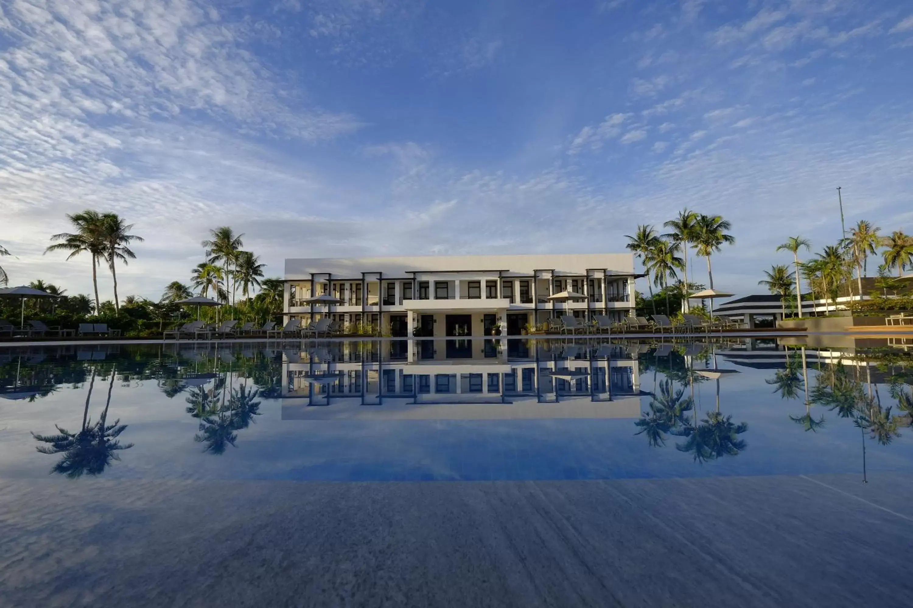
[[[0,479],[5,606],[908,606],[906,475]]]

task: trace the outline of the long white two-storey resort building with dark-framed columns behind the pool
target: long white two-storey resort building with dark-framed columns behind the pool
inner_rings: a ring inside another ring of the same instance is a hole
[[[521,335],[563,314],[633,314],[635,276],[630,253],[287,259],[284,315],[393,337]]]

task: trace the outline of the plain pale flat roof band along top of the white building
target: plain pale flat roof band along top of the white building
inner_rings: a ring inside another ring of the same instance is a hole
[[[340,278],[362,273],[406,277],[410,273],[503,271],[506,276],[531,275],[535,270],[557,274],[583,274],[587,269],[634,274],[632,253],[536,253],[530,255],[417,255],[384,258],[287,258],[286,279],[306,280],[311,273],[332,273]]]

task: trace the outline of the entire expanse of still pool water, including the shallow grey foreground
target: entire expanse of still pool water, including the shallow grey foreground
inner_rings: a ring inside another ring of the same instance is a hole
[[[904,605],[913,353],[801,340],[0,348],[0,604]]]

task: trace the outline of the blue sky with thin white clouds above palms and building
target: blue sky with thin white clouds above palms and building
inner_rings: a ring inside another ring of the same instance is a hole
[[[121,294],[157,297],[222,224],[280,275],[622,251],[687,206],[734,224],[717,286],[757,292],[786,236],[839,236],[838,185],[847,222],[913,230],[911,60],[888,0],[10,0],[2,263],[88,293],[41,254],[87,207],[135,223]]]

